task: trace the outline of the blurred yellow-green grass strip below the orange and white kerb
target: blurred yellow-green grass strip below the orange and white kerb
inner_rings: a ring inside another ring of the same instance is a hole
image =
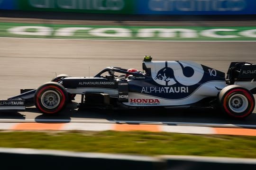
[[[142,131],[2,131],[0,147],[256,158],[256,136],[190,135]]]

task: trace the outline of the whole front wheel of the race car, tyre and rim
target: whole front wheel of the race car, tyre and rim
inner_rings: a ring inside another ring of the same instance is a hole
[[[64,108],[67,99],[67,92],[63,85],[48,82],[37,89],[34,101],[41,112],[55,114]]]

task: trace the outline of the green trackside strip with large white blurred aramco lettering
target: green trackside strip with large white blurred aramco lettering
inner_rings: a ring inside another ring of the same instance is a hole
[[[256,26],[88,26],[0,23],[0,36],[94,40],[256,41]]]

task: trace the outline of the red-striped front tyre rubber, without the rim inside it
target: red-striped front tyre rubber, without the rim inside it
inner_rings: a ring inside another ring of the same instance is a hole
[[[54,108],[46,108],[44,106],[44,104],[42,103],[42,95],[44,93],[46,93],[47,91],[53,91],[55,92],[56,95],[58,95],[59,98],[59,103],[56,107]],[[43,113],[47,113],[47,114],[54,114],[59,112],[60,110],[62,110],[66,104],[66,100],[67,100],[67,93],[64,89],[64,87],[58,83],[54,83],[54,82],[49,82],[46,83],[42,86],[40,86],[36,93],[35,93],[35,105],[37,107],[38,110],[40,110]]]

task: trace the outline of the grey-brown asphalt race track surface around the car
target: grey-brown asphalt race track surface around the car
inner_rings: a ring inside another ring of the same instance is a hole
[[[37,88],[56,74],[94,76],[108,66],[142,69],[145,55],[154,60],[194,60],[226,72],[231,61],[256,63],[256,42],[146,42],[0,38],[0,99]],[[245,120],[228,119],[216,110],[77,110],[70,103],[56,116],[36,108],[0,112],[9,121],[35,119],[189,122],[256,125],[256,110]]]

